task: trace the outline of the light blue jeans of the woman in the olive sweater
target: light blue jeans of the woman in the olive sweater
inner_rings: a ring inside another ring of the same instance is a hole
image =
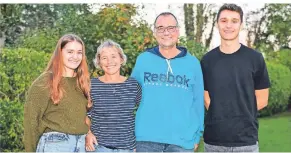
[[[36,152],[85,152],[85,136],[61,132],[42,134]]]

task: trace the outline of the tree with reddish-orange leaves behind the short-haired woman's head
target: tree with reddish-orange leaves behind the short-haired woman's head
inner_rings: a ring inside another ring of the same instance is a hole
[[[84,38],[89,61],[94,58],[96,48],[102,41],[112,39],[119,43],[128,57],[128,62],[123,67],[122,73],[129,75],[138,54],[154,44],[150,26],[145,20],[134,21],[133,18],[136,15],[137,7],[135,5],[106,5],[97,14],[83,16],[84,22],[70,27],[73,31],[78,31]],[[100,74],[99,70],[95,70],[92,62],[90,62],[90,67],[94,72]]]

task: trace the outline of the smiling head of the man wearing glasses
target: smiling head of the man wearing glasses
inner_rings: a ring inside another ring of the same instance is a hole
[[[157,19],[154,36],[161,48],[176,47],[179,34],[177,21],[172,15],[162,15]]]

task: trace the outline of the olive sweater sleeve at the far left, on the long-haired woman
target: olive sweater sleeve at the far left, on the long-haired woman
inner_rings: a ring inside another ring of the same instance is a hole
[[[48,106],[49,92],[43,78],[38,78],[30,89],[24,104],[24,147],[27,152],[35,152],[43,130],[40,129],[42,116]]]

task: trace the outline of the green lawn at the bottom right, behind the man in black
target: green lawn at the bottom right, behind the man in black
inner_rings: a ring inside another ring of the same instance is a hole
[[[291,112],[259,119],[260,152],[291,152]],[[203,140],[198,152],[203,152]]]

